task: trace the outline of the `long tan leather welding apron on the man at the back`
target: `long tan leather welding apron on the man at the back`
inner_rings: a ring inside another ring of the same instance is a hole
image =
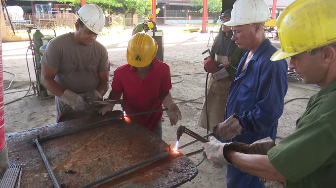
[[[228,62],[227,56],[215,54],[215,61],[219,64]],[[224,113],[226,107],[226,101],[229,96],[229,89],[231,85],[230,76],[217,82],[210,76],[210,80],[207,88],[207,103],[208,103],[208,118],[209,118],[209,130],[219,123],[224,121]],[[206,98],[204,98],[201,115],[197,124],[207,129],[207,114],[206,114]]]

